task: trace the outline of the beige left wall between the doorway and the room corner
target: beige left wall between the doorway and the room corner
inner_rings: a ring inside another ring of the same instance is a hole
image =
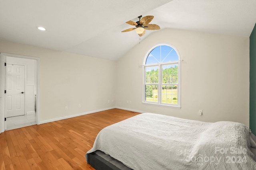
[[[115,106],[114,61],[2,40],[0,52],[40,58],[40,122]]]

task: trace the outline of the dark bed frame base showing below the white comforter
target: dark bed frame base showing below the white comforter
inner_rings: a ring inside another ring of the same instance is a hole
[[[87,154],[87,158],[87,163],[96,170],[132,170],[100,150]]]

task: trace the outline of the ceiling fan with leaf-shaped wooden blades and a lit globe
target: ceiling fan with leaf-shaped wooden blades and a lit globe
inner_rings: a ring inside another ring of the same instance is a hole
[[[121,32],[128,32],[128,31],[133,31],[135,30],[136,33],[141,37],[142,35],[144,35],[146,33],[145,29],[148,30],[157,30],[160,29],[160,27],[156,24],[149,24],[150,21],[153,20],[154,16],[144,16],[142,18],[142,16],[138,16],[139,21],[134,22],[134,21],[127,21],[126,23],[135,26],[135,28],[129,28],[126,29],[124,31]]]

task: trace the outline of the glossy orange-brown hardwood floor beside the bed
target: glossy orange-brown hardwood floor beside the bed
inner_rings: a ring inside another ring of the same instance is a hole
[[[0,170],[94,170],[85,160],[101,129],[139,113],[110,109],[0,134]]]

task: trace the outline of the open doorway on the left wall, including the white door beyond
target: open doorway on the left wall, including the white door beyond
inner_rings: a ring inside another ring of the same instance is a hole
[[[39,58],[1,53],[0,67],[0,132],[38,124]]]

